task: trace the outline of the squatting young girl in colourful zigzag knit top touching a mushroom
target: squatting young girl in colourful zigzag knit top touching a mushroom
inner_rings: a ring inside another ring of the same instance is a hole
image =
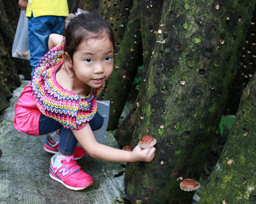
[[[153,160],[154,147],[123,151],[97,143],[93,135],[103,123],[96,112],[96,98],[113,71],[114,39],[109,24],[93,13],[75,16],[70,19],[65,39],[50,35],[52,47],[39,61],[31,83],[16,103],[14,119],[19,132],[32,136],[60,129],[59,152],[50,160],[50,178],[75,191],[93,184],[92,177],[74,160],[78,142],[93,158]]]

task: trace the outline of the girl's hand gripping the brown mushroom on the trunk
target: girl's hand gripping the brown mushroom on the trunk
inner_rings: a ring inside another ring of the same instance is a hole
[[[155,151],[156,148],[154,147],[143,149],[140,148],[139,146],[136,146],[132,151],[132,160],[150,162],[154,158]]]

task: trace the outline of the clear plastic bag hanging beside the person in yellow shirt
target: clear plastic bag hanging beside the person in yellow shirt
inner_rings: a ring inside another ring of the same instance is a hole
[[[30,52],[28,46],[28,18],[26,18],[26,11],[21,10],[19,22],[16,29],[14,44],[12,45],[12,57],[29,60]]]

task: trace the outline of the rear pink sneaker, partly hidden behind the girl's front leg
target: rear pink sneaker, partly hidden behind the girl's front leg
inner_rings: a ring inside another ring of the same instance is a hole
[[[59,140],[56,142],[50,141],[49,134],[48,134],[45,139],[45,147],[43,148],[48,153],[57,154],[59,151]],[[76,146],[74,151],[75,160],[80,160],[80,158],[85,157],[85,155],[86,155],[85,150],[82,147]]]

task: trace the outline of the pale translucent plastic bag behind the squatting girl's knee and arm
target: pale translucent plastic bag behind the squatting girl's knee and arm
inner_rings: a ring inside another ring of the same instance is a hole
[[[103,117],[104,122],[103,126],[99,130],[93,131],[93,134],[97,142],[100,144],[103,144],[105,140],[107,124],[109,123],[109,108],[110,101],[97,101],[97,113]]]

